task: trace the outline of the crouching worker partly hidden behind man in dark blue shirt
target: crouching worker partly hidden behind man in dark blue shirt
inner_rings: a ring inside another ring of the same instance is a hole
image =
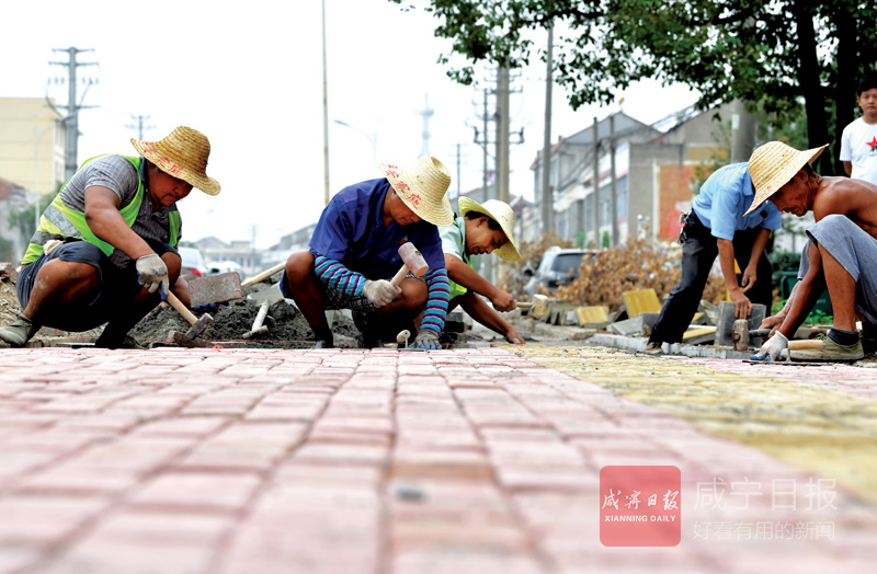
[[[460,217],[454,225],[442,227],[442,249],[445,266],[451,278],[451,302],[448,311],[460,306],[469,315],[505,337],[509,343],[523,344],[522,337],[497,311],[514,311],[514,297],[493,286],[472,267],[470,257],[494,253],[498,257],[515,262],[521,252],[512,237],[514,211],[509,204],[488,199],[483,205],[459,198]],[[480,296],[487,297],[493,307]]]

